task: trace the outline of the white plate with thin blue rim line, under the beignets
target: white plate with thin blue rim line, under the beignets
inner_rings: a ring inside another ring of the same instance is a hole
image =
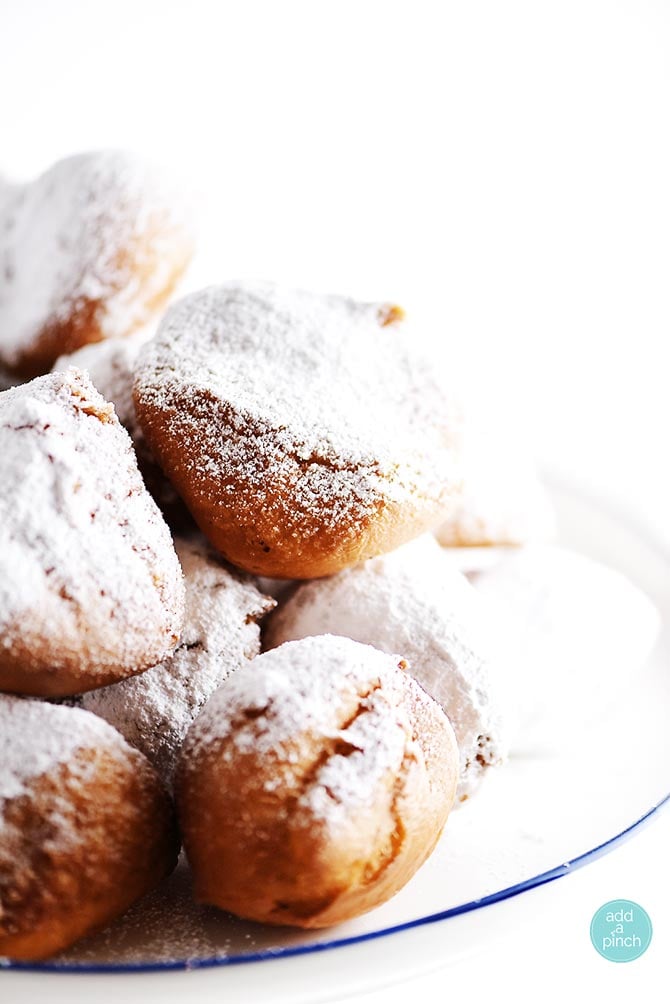
[[[67,961],[9,967],[1,976],[4,999],[34,1000],[42,993],[68,1004],[89,1001],[93,994],[116,999],[122,979],[124,998],[131,1002],[147,1001],[150,993],[163,1001],[188,993],[202,1002],[295,1004],[363,991],[476,952],[495,927],[493,904],[611,849],[666,800],[670,555],[609,505],[587,500],[574,488],[550,488],[562,542],[625,572],[661,611],[659,643],[624,700],[615,706],[604,700],[582,734],[567,728],[560,754],[512,757],[453,813],[438,848],[413,881],[391,903],[355,922],[305,933],[228,919],[193,905],[188,872],[180,869],[163,893],[70,951]],[[394,952],[387,949],[389,936]],[[281,961],[268,963],[277,957]],[[382,960],[379,970],[376,962]],[[148,963],[157,971],[137,972]],[[76,966],[87,974],[73,973]],[[100,966],[126,969],[126,975],[102,973]],[[129,966],[136,972],[129,974]],[[67,972],[56,975],[56,968]],[[191,970],[188,975],[185,969]]]

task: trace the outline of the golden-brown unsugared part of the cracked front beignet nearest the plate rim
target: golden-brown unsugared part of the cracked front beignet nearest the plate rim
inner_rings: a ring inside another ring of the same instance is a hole
[[[365,803],[354,803],[334,822],[327,807],[324,816],[310,809],[314,788],[320,789],[317,804],[333,797],[317,775],[329,758],[362,752],[347,730],[370,710],[378,682],[342,703],[328,735],[296,725],[289,741],[262,755],[251,742],[236,746],[234,733],[199,743],[196,721],[182,751],[176,795],[201,902],[266,924],[323,928],[380,906],[412,877],[453,805],[458,752],[439,706],[409,674],[399,669],[398,677],[388,715],[378,723],[392,729],[398,706],[409,712],[398,773],[386,772]],[[262,727],[264,716],[271,722],[274,714],[271,705],[260,713],[249,706],[237,727]]]

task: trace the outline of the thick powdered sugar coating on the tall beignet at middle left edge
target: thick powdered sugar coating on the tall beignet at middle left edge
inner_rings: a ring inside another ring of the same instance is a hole
[[[165,658],[183,610],[169,530],[113,406],[76,369],[0,395],[0,665],[21,647],[31,668],[94,686]]]

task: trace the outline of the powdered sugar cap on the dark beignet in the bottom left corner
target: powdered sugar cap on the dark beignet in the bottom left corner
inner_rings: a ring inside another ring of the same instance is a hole
[[[31,781],[67,764],[76,750],[99,746],[129,752],[119,733],[94,715],[1,694],[0,830],[6,799],[25,794]]]

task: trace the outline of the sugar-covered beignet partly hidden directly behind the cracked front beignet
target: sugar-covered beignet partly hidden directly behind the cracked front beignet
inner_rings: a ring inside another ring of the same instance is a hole
[[[459,798],[500,763],[506,740],[491,678],[486,612],[430,536],[330,578],[301,583],[270,618],[266,645],[344,635],[399,653],[456,733]]]

